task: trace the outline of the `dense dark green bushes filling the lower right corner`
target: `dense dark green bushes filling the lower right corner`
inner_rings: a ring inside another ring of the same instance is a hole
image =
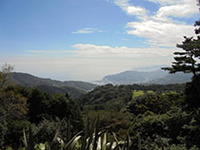
[[[151,93],[134,98],[128,105],[133,147],[142,149],[199,149],[200,109],[186,111],[185,95]]]

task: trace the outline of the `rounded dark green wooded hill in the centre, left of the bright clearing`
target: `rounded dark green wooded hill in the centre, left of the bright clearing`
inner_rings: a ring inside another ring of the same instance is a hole
[[[128,86],[99,86],[82,98],[82,103],[90,105],[90,109],[120,111],[132,98],[132,90]]]

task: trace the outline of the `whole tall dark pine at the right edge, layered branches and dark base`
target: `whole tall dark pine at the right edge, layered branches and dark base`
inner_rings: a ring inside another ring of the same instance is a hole
[[[177,44],[181,52],[175,52],[172,67],[163,68],[170,73],[192,73],[193,78],[187,83],[185,94],[187,108],[200,107],[200,21],[195,22],[195,37],[184,37],[182,44]]]

